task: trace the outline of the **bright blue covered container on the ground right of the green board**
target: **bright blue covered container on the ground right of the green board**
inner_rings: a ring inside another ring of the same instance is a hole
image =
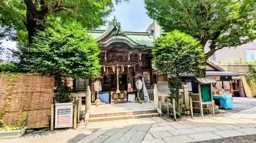
[[[220,100],[221,109],[233,109],[232,97],[213,96],[214,99]]]

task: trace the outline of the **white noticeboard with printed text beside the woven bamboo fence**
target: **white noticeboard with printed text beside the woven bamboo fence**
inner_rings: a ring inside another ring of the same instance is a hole
[[[73,103],[55,104],[55,128],[73,127]]]

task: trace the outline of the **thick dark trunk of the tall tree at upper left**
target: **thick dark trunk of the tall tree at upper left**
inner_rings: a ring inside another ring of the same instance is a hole
[[[24,0],[27,6],[27,22],[26,27],[28,31],[28,39],[31,44],[33,36],[36,35],[37,31],[44,31],[46,28],[46,20],[48,8],[46,0],[41,0],[41,10],[36,9],[34,1]]]

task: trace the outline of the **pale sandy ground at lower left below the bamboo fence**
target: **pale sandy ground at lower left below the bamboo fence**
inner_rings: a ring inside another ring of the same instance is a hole
[[[42,131],[40,133],[29,133],[21,138],[0,139],[1,143],[75,143],[88,136],[95,130],[77,128],[76,130],[54,130]]]

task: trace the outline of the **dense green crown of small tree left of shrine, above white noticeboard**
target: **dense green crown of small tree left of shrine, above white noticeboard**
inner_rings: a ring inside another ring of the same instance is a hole
[[[56,21],[54,28],[38,32],[31,47],[24,49],[25,69],[57,77],[97,77],[100,49],[81,27],[77,22],[61,25]]]

